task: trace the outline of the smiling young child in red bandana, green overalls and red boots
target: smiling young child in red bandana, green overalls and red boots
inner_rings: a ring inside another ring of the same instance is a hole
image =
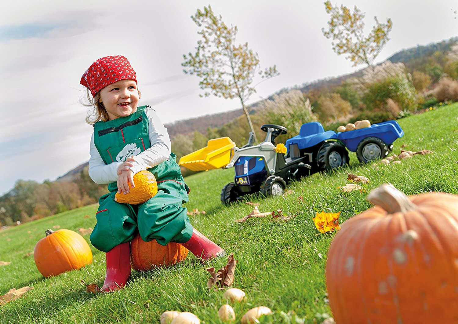
[[[224,256],[224,250],[194,229],[183,203],[189,187],[170,151],[167,129],[150,106],[137,106],[140,91],[136,73],[124,56],[96,60],[84,72],[81,84],[93,113],[89,176],[109,184],[99,199],[97,224],[91,243],[106,253],[107,274],[102,290],[122,289],[131,275],[130,245],[138,231],[143,241],[182,244],[197,258]],[[89,96],[89,92],[92,94]],[[130,205],[114,201],[116,192],[129,192],[133,176],[148,170],[156,177],[158,193],[146,203]]]

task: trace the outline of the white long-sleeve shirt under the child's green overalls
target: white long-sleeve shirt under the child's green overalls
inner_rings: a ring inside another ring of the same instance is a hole
[[[148,135],[151,147],[135,156],[135,161],[132,162],[133,166],[131,167],[134,174],[161,164],[169,158],[171,152],[172,145],[167,128],[164,127],[164,124],[151,107],[145,108],[145,113],[148,117]],[[122,162],[105,164],[95,147],[94,133],[91,136],[89,153],[91,154],[89,176],[95,183],[104,185],[118,180],[117,170]]]

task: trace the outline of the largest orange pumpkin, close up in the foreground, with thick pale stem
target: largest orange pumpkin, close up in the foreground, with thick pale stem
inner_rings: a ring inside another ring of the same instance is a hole
[[[458,196],[407,197],[391,185],[329,248],[326,280],[336,323],[458,323]]]

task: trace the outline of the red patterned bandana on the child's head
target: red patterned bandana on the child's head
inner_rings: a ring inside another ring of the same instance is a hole
[[[132,79],[137,82],[137,74],[124,56],[117,55],[96,60],[84,72],[80,83],[95,96],[109,84],[125,79]]]

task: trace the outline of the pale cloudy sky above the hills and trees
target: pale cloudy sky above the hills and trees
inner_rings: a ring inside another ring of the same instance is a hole
[[[164,123],[240,108],[237,99],[201,98],[199,78],[185,75],[183,54],[194,52],[199,28],[191,20],[210,4],[237,42],[259,55],[261,67],[280,75],[256,87],[248,104],[282,88],[352,73],[344,55],[331,49],[323,1],[60,1],[2,3],[0,20],[0,195],[16,180],[55,180],[89,160],[93,127],[80,104],[82,73],[100,57],[124,55],[136,70],[140,104],[153,106]],[[342,2],[333,1],[334,5]],[[458,35],[456,0],[345,1],[373,17],[393,20],[376,62],[417,45]],[[255,80],[256,81],[256,80]],[[173,149],[173,148],[172,148]]]

